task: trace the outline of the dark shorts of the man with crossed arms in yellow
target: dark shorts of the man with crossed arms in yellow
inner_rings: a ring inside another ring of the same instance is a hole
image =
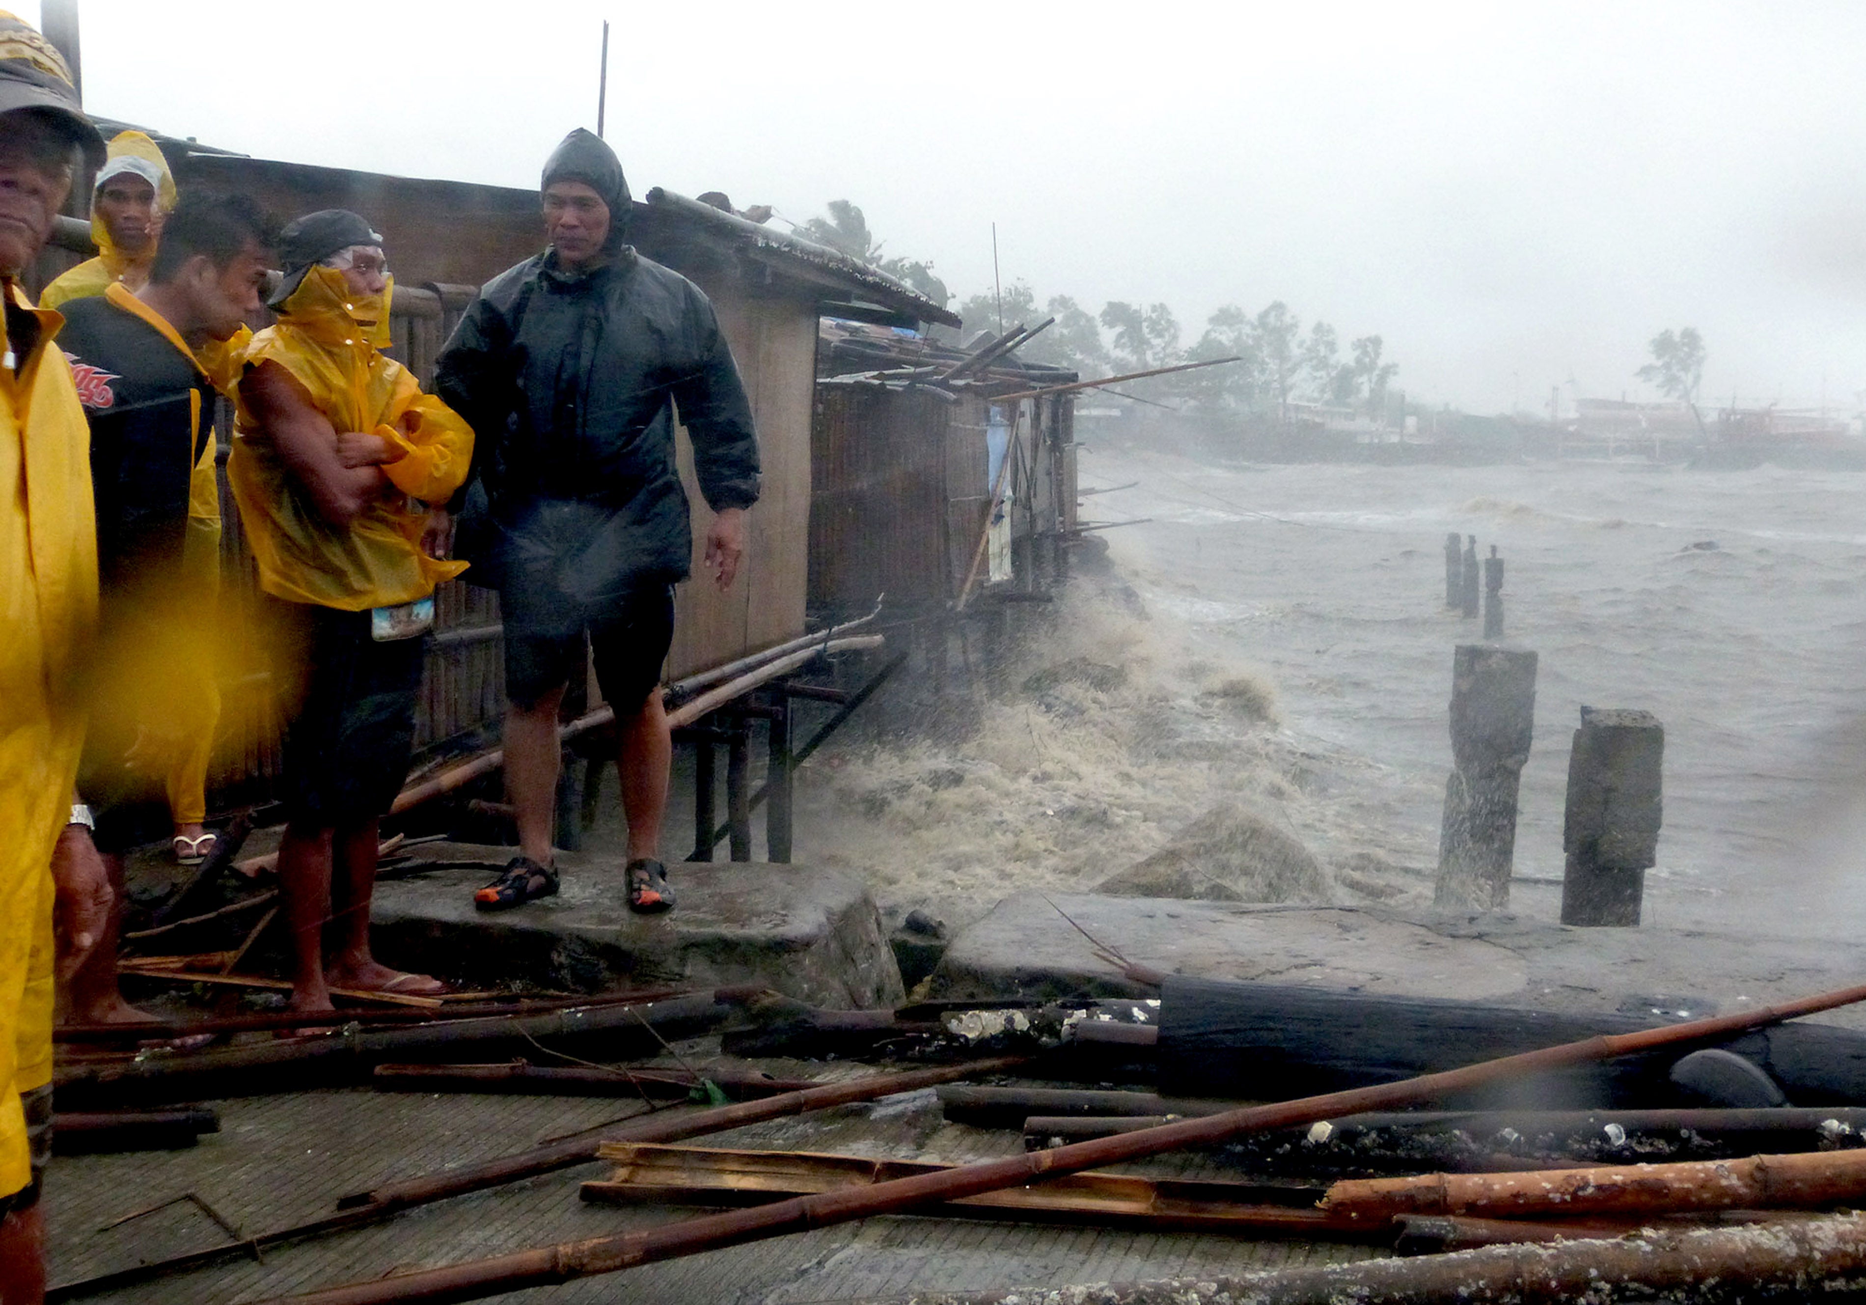
[[[369,612],[265,603],[285,726],[285,820],[338,829],[388,814],[409,777],[427,638],[377,642]]]

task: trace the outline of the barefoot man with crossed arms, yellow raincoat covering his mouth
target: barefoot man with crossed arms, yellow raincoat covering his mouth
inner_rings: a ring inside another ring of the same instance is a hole
[[[228,480],[271,599],[285,715],[278,877],[293,1006],[330,988],[431,995],[369,954],[377,820],[407,779],[437,581],[437,513],[472,429],[383,357],[394,289],[383,237],[341,209],[280,235],[278,325],[254,336]],[[330,924],[328,950],[321,943]]]

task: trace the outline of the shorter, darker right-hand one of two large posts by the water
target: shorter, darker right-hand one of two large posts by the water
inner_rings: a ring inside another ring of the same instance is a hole
[[[1657,863],[1664,726],[1650,711],[1582,708],[1567,756],[1562,924],[1638,924]]]

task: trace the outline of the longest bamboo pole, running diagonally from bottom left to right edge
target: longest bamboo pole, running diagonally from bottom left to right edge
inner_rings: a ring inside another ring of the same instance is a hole
[[[1455,1092],[1498,1079],[1538,1073],[1567,1064],[1603,1060],[1610,1057],[1651,1051],[1657,1047],[1676,1047],[1681,1044],[1711,1042],[1797,1016],[1808,1016],[1836,1006],[1849,1006],[1866,1001],[1866,986],[1844,988],[1831,993],[1803,997],[1763,1010],[1711,1019],[1692,1019],[1689,1023],[1646,1029],[1642,1032],[1607,1034],[1569,1042],[1539,1051],[1525,1051],[1497,1060],[1483,1060],[1461,1070],[1442,1070],[1401,1083],[1383,1083],[1375,1087],[1329,1092],[1297,1102],[1276,1102],[1271,1105],[1246,1105],[1224,1115],[1207,1118],[1179,1120],[1138,1133],[1103,1137],[1056,1150],[1024,1152],[1008,1159],[993,1159],[976,1165],[963,1165],[939,1174],[916,1178],[898,1178],[875,1184],[858,1191],[821,1193],[814,1197],[793,1197],[752,1210],[733,1210],[730,1214],[705,1215],[685,1223],[668,1223],[657,1228],[642,1228],[620,1236],[588,1238],[582,1242],[562,1242],[558,1245],[513,1251],[483,1260],[450,1264],[439,1270],[420,1270],[394,1277],[351,1283],[323,1292],[291,1298],[299,1305],[379,1305],[386,1301],[468,1301],[500,1292],[513,1292],[522,1286],[545,1286],[569,1283],[597,1273],[672,1260],[698,1251],[715,1251],[728,1245],[743,1245],[763,1238],[799,1232],[802,1228],[821,1228],[832,1223],[866,1219],[929,1200],[959,1200],[985,1191],[1017,1187],[1054,1174],[1071,1174],[1103,1165],[1118,1165],[1131,1159],[1144,1159],[1187,1146],[1222,1143],[1248,1131],[1271,1128],[1293,1128],[1312,1124],[1338,1115],[1360,1111],[1396,1109],[1416,1102],[1433,1100],[1446,1092]],[[737,1107],[745,1109],[745,1107]],[[1866,1258],[1866,1247],[1860,1251]]]

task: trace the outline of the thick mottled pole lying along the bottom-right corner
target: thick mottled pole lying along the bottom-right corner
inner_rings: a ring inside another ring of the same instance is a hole
[[[1497,1245],[1241,1277],[926,1292],[894,1298],[890,1305],[1573,1305],[1612,1299],[1747,1305],[1758,1299],[1857,1299],[1862,1271],[1866,1215],[1849,1214],[1741,1228],[1644,1230],[1599,1242]],[[1836,1290],[1823,1290],[1829,1284]]]

